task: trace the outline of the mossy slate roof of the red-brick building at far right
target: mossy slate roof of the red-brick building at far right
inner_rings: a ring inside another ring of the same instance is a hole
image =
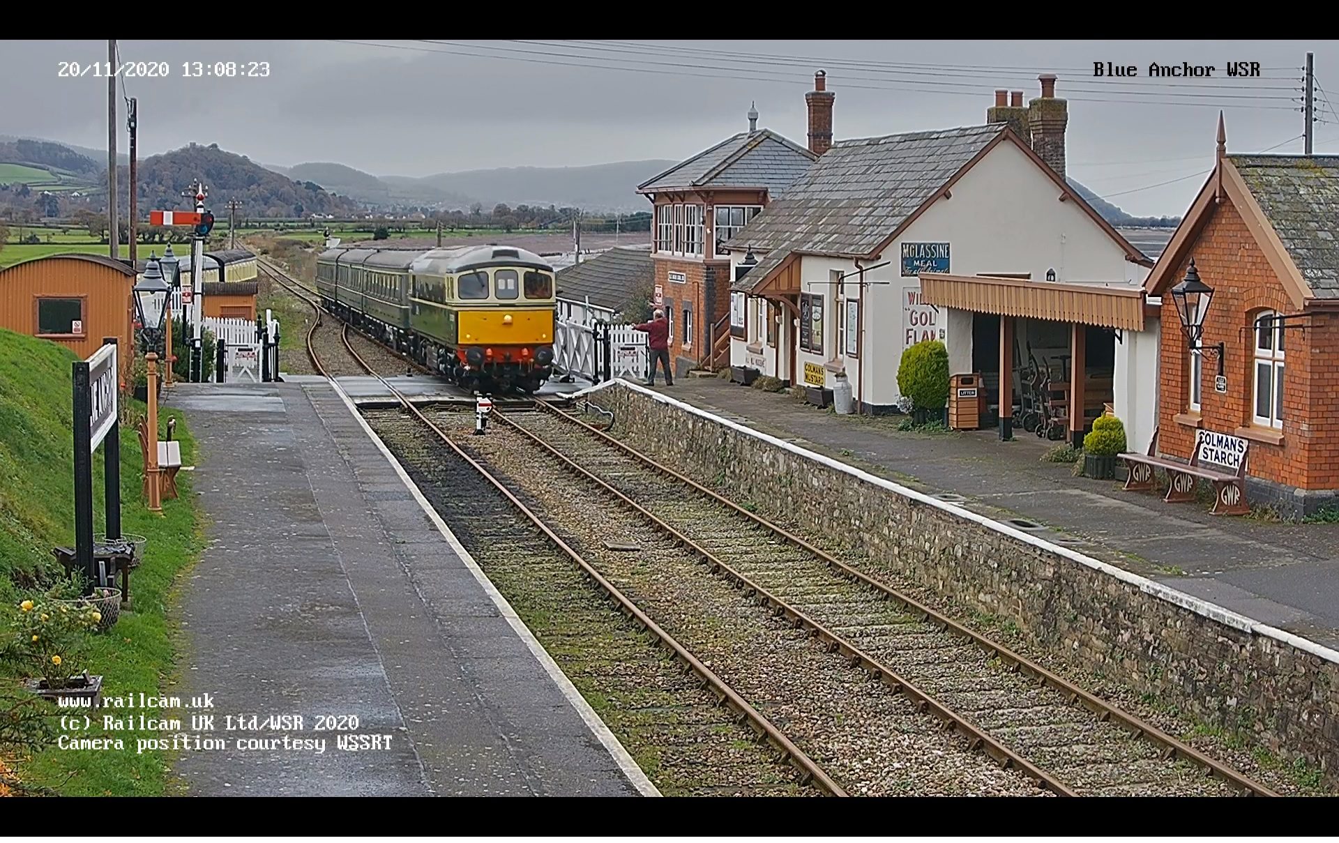
[[[1339,155],[1228,155],[1318,298],[1339,298]]]

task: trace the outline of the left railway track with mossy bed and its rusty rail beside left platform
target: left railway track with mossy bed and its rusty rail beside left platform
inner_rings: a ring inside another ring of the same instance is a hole
[[[380,377],[358,351],[348,352]],[[628,721],[641,743],[653,747],[659,785],[695,795],[833,795],[845,796],[817,763],[753,708],[704,662],[643,613],[628,597],[574,551],[521,499],[482,464],[470,458],[437,423],[390,383],[407,415],[367,413],[383,436],[412,432],[422,446],[422,428],[435,435],[435,447],[415,454],[410,470],[427,480],[438,511],[485,566],[510,602],[542,617],[532,630],[565,673],[597,696],[616,696],[625,705],[607,712],[617,727]],[[473,416],[453,413],[469,420]],[[418,458],[418,459],[415,459]],[[518,518],[517,515],[521,515]],[[603,630],[603,646],[588,646]],[[664,653],[672,657],[664,658]],[[631,704],[631,705],[629,705]],[[645,753],[641,753],[645,755]],[[645,763],[644,759],[641,759]]]

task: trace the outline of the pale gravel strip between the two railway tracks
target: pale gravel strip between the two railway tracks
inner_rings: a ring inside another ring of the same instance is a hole
[[[451,424],[443,416],[443,424]],[[457,427],[459,421],[455,421]],[[607,492],[497,428],[459,444],[853,795],[1043,795],[907,697],[712,577]],[[637,542],[640,553],[609,543]]]

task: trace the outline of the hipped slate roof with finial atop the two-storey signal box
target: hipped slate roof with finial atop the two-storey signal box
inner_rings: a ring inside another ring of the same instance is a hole
[[[739,132],[652,177],[637,193],[688,187],[766,187],[777,197],[817,155],[770,128]]]

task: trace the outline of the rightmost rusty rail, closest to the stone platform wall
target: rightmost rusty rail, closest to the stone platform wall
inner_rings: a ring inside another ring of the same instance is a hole
[[[1227,764],[1224,764],[1224,763],[1221,763],[1221,761],[1218,761],[1216,759],[1209,757],[1208,755],[1200,752],[1194,747],[1190,747],[1186,743],[1184,743],[1184,741],[1181,741],[1181,740],[1178,740],[1178,739],[1168,735],[1166,732],[1158,729],[1157,727],[1154,727],[1154,725],[1152,725],[1149,723],[1145,723],[1144,720],[1139,720],[1138,717],[1135,717],[1134,715],[1131,715],[1131,713],[1121,709],[1119,707],[1117,707],[1117,705],[1114,705],[1111,702],[1107,702],[1106,700],[1102,700],[1102,698],[1099,698],[1099,697],[1097,697],[1097,696],[1094,696],[1094,694],[1083,690],[1078,685],[1075,685],[1075,684],[1070,682],[1069,680],[1058,676],[1056,673],[1052,673],[1051,670],[1047,670],[1046,668],[1043,668],[1042,665],[1039,665],[1039,664],[1028,660],[1027,657],[1024,657],[1024,656],[1022,656],[1019,653],[1015,653],[1014,650],[1008,649],[1007,646],[1004,646],[1002,644],[998,644],[998,642],[987,638],[986,636],[983,636],[983,634],[980,634],[977,632],[973,632],[972,629],[968,629],[967,626],[963,626],[957,621],[953,621],[952,618],[944,616],[943,613],[936,612],[935,609],[932,609],[932,607],[921,603],[916,598],[913,598],[911,595],[907,595],[907,594],[902,594],[901,591],[884,585],[882,582],[880,582],[880,581],[869,577],[868,574],[865,574],[865,573],[862,573],[860,570],[856,570],[850,565],[846,565],[845,562],[842,562],[842,561],[834,558],[833,555],[830,555],[830,554],[819,550],[818,547],[814,547],[813,545],[810,545],[803,538],[801,538],[798,535],[794,535],[793,533],[790,533],[785,527],[781,527],[781,526],[778,526],[778,525],[775,525],[775,523],[773,523],[773,522],[770,522],[770,521],[767,521],[767,519],[765,519],[765,518],[762,518],[762,517],[759,517],[759,515],[757,515],[754,512],[750,512],[749,510],[740,507],[739,504],[734,503],[732,500],[730,500],[730,499],[722,496],[720,494],[718,494],[718,492],[715,492],[715,491],[712,491],[712,490],[702,486],[700,483],[698,483],[692,478],[688,478],[688,476],[686,476],[686,475],[683,475],[683,474],[680,474],[678,471],[675,471],[674,468],[670,468],[670,467],[667,467],[667,466],[664,466],[664,464],[661,464],[661,463],[651,459],[645,454],[641,454],[640,451],[637,451],[637,450],[627,446],[625,443],[615,439],[613,436],[609,436],[604,431],[601,431],[601,430],[599,430],[599,428],[596,428],[596,427],[593,427],[590,424],[586,424],[581,419],[577,419],[577,417],[572,416],[570,413],[562,412],[562,409],[560,409],[558,407],[556,407],[553,404],[549,404],[548,401],[542,401],[542,400],[536,401],[536,404],[541,409],[544,409],[546,412],[550,412],[550,413],[553,413],[556,416],[560,416],[560,417],[570,421],[572,424],[580,426],[588,434],[599,438],[601,442],[607,442],[607,443],[609,443],[609,444],[620,448],[621,451],[624,451],[629,456],[632,456],[632,458],[635,458],[635,459],[645,463],[647,466],[649,466],[655,471],[657,471],[660,474],[664,474],[667,476],[671,476],[671,478],[679,480],[680,483],[684,483],[684,484],[692,487],[698,492],[710,496],[715,502],[720,503],[722,506],[728,507],[731,511],[742,515],[743,518],[746,518],[749,521],[753,521],[754,523],[765,527],[766,530],[770,530],[775,535],[786,539],[787,542],[795,545],[797,547],[801,547],[802,550],[805,550],[805,551],[807,551],[807,553],[818,557],[830,569],[833,569],[837,573],[848,577],[849,579],[857,581],[857,582],[864,583],[864,585],[866,585],[866,586],[869,586],[872,589],[876,589],[877,591],[880,591],[884,595],[886,595],[889,599],[893,599],[897,603],[900,603],[904,609],[911,610],[912,613],[921,616],[921,618],[924,621],[932,622],[932,624],[936,624],[936,625],[941,626],[944,632],[952,632],[955,634],[959,634],[959,636],[963,636],[965,638],[969,638],[977,648],[980,648],[981,650],[984,650],[988,656],[999,658],[1006,665],[1008,665],[1010,669],[1019,670],[1019,672],[1024,673],[1026,676],[1031,676],[1035,680],[1038,680],[1039,682],[1042,682],[1042,684],[1044,684],[1044,685],[1047,685],[1047,686],[1050,686],[1050,688],[1052,688],[1052,689],[1055,689],[1058,692],[1060,692],[1062,694],[1066,694],[1070,698],[1070,704],[1071,705],[1082,704],[1083,708],[1087,708],[1094,715],[1097,715],[1099,720],[1103,720],[1103,721],[1115,721],[1115,723],[1121,724],[1122,727],[1125,727],[1126,729],[1129,729],[1131,733],[1134,733],[1134,736],[1137,739],[1148,740],[1148,741],[1152,741],[1153,744],[1158,745],[1161,748],[1161,751],[1162,751],[1162,757],[1164,759],[1173,760],[1176,757],[1182,757],[1182,759],[1185,759],[1188,761],[1192,761],[1192,763],[1202,767],[1208,773],[1214,775],[1214,776],[1223,779],[1224,781],[1227,781],[1227,783],[1237,787],[1239,789],[1244,791],[1249,796],[1277,796],[1277,793],[1275,791],[1269,789],[1264,784],[1260,784],[1259,781],[1255,781],[1253,779],[1245,776],[1244,773],[1239,772],[1237,769],[1235,769],[1235,768],[1232,768],[1232,767],[1229,767],[1229,765],[1227,765]],[[520,426],[517,426],[517,427],[518,427],[518,430],[522,430],[522,428],[520,428]],[[529,431],[525,431],[525,432],[529,434]],[[533,434],[530,434],[530,435],[533,436]],[[568,460],[568,462],[570,462],[570,460]],[[852,649],[854,649],[854,648],[852,648]]]

